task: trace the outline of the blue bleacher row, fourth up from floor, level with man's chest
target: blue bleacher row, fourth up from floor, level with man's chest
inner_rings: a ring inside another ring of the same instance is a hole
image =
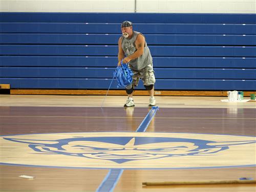
[[[256,57],[256,46],[150,46],[152,56]],[[1,55],[115,56],[118,46],[0,45]]]

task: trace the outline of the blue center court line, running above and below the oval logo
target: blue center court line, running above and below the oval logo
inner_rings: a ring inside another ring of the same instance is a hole
[[[146,115],[146,117],[143,119],[143,121],[140,123],[138,129],[136,132],[145,132],[147,129],[147,126],[150,124],[152,118],[156,114],[158,110],[158,106],[153,106]],[[101,182],[99,187],[97,188],[96,192],[112,192],[123,173],[123,169],[110,169],[108,175],[104,178],[104,180]]]

